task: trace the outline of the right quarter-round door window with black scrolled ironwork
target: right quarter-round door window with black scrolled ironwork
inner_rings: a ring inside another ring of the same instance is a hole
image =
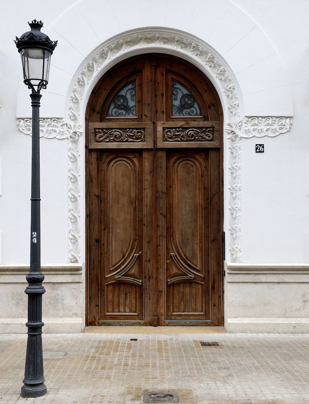
[[[190,91],[173,80],[173,116],[201,116],[200,107]]]

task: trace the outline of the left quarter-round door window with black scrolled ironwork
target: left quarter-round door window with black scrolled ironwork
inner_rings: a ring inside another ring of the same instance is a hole
[[[109,117],[136,116],[136,85],[130,82],[117,93],[107,112]]]

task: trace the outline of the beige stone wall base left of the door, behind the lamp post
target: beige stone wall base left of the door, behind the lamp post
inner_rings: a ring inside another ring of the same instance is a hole
[[[43,333],[82,332],[85,326],[85,289],[82,264],[42,264]],[[0,334],[26,334],[27,265],[0,265]]]

